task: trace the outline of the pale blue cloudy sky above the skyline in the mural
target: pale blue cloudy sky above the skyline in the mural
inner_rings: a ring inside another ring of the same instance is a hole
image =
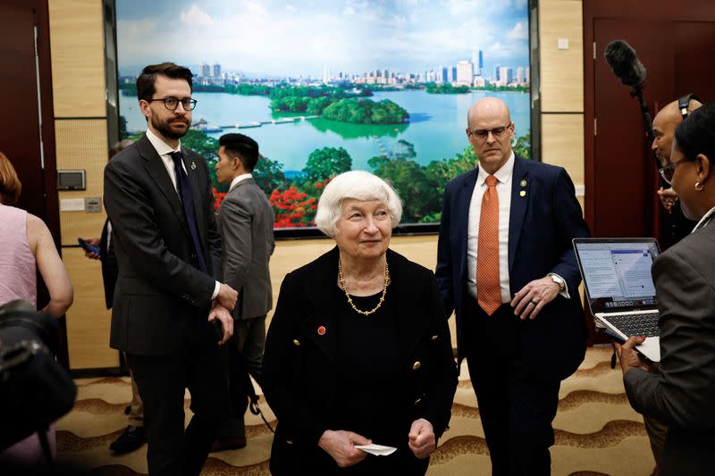
[[[528,66],[527,0],[117,0],[120,74],[148,63],[312,76]],[[196,71],[195,71],[196,72]]]

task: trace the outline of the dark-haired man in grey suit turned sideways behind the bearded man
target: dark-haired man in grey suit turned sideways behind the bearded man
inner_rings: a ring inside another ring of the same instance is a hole
[[[216,213],[223,240],[223,280],[239,291],[239,301],[233,310],[237,328],[233,338],[235,348],[230,350],[242,355],[248,372],[260,384],[265,314],[273,307],[268,268],[275,247],[273,209],[251,175],[260,158],[257,142],[243,134],[225,134],[219,138],[219,145],[216,175],[219,182],[230,186]],[[236,370],[242,363],[237,354],[232,355],[231,361]],[[231,378],[240,379],[235,373]],[[244,396],[240,399],[241,402],[238,398],[231,402],[236,405],[234,414],[223,424],[214,451],[246,446],[243,412],[247,400]]]

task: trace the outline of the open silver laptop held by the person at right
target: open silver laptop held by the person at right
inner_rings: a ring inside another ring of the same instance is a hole
[[[655,238],[575,238],[574,251],[596,326],[624,340],[644,336],[636,347],[660,362],[660,329],[651,266],[660,254]]]

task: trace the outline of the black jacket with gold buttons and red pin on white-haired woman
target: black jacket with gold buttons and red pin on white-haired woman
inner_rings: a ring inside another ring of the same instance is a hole
[[[329,297],[333,293],[325,292],[336,286],[338,257],[335,247],[290,272],[281,286],[266,338],[263,370],[265,398],[278,417],[273,474],[297,474],[306,464],[315,468],[315,461],[307,460],[324,453],[317,447],[318,440],[324,430],[340,430],[331,427],[333,415],[349,411],[335,406],[333,363],[338,342],[331,329],[341,303]],[[425,418],[439,438],[450,422],[457,368],[437,282],[432,271],[391,250],[387,262],[388,292],[399,296],[400,302],[397,319],[405,416],[410,422]],[[321,326],[326,330],[323,335],[316,331]]]

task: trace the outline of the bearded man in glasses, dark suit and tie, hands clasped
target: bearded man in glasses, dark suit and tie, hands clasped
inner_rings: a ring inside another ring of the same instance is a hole
[[[119,266],[110,345],[126,352],[139,385],[152,476],[198,475],[229,406],[218,344],[233,332],[237,293],[217,280],[206,160],[181,146],[196,105],[191,85],[191,71],[176,64],[144,68],[137,96],[147,133],[105,168]],[[184,430],[186,388],[194,416]]]

